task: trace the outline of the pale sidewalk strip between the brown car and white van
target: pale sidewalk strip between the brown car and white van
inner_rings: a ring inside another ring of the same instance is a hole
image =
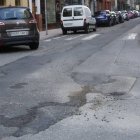
[[[46,31],[41,31],[40,40],[48,39],[50,37],[58,36],[61,34],[62,34],[61,28],[48,30],[48,33],[46,33]]]

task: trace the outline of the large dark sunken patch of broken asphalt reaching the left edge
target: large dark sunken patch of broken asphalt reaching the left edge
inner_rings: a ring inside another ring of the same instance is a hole
[[[18,128],[12,134],[14,137],[39,133],[67,117],[79,115],[79,107],[86,104],[86,94],[89,92],[91,92],[90,87],[85,86],[81,91],[73,93],[67,103],[40,103],[38,106],[30,108],[27,114],[14,118],[0,115],[0,124],[5,127]]]

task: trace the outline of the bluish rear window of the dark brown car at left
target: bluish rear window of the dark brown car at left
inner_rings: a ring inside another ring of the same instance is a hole
[[[28,19],[32,14],[25,8],[2,8],[0,9],[0,20]]]

